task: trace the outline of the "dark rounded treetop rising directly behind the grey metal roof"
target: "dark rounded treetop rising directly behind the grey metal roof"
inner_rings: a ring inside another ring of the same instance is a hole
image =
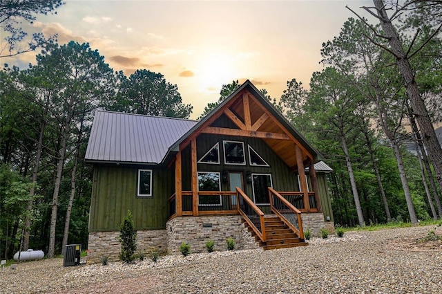
[[[164,75],[138,69],[126,77],[118,73],[117,101],[108,109],[150,116],[189,118],[190,104],[183,104],[176,84],[166,82]]]

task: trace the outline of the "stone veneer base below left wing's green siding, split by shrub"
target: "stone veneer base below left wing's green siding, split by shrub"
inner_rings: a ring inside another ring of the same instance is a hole
[[[99,262],[102,256],[109,260],[119,260],[121,244],[118,241],[119,231],[90,232],[88,240],[88,264]],[[166,230],[139,230],[137,231],[137,250],[147,252],[151,249],[166,252]]]

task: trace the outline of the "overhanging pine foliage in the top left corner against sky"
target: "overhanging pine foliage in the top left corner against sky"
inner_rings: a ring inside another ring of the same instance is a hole
[[[63,0],[1,0],[0,26],[3,33],[0,43],[0,57],[15,56],[35,50],[46,43],[43,34],[28,33],[23,29],[24,23],[32,24],[36,15],[57,13],[55,10],[64,4]]]

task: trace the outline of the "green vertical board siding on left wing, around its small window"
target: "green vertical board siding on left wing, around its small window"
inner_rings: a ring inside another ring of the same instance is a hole
[[[137,196],[138,169],[152,169],[153,196]],[[175,192],[173,167],[95,165],[90,203],[90,232],[119,230],[128,210],[136,230],[166,228],[169,196]]]

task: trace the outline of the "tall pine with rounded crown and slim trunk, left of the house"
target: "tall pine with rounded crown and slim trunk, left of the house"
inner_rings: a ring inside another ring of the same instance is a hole
[[[55,183],[52,193],[52,212],[48,257],[55,254],[55,228],[61,177],[68,151],[68,140],[74,122],[83,113],[90,113],[101,103],[99,100],[113,95],[113,70],[104,63],[104,57],[89,44],[69,44],[59,46],[48,44],[46,50],[37,55],[37,71],[44,73],[44,82],[52,85],[55,91],[50,113],[59,126],[58,142],[55,149]]]

